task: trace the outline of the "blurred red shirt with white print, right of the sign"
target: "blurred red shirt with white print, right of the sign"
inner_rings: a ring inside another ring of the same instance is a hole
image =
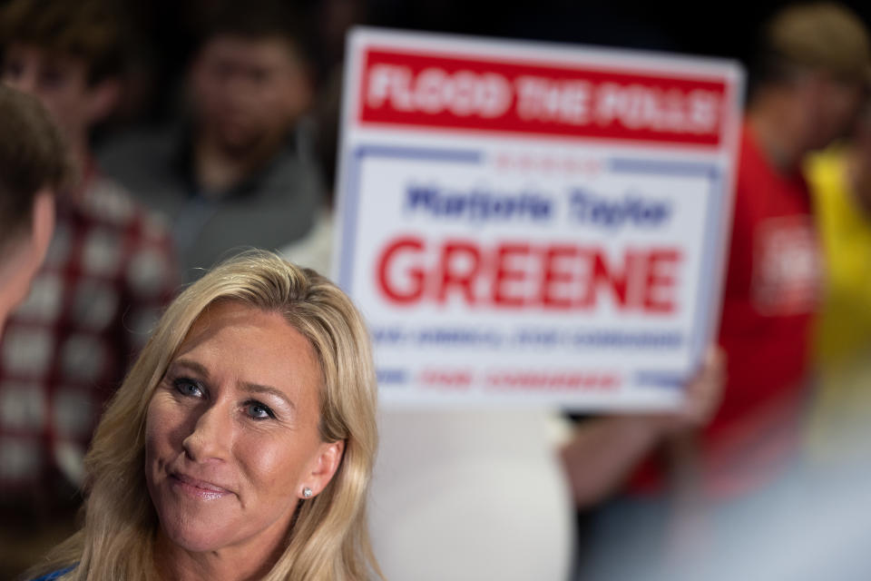
[[[807,184],[779,172],[745,124],[719,344],[727,383],[700,442],[710,497],[733,497],[775,478],[798,448],[811,323],[821,280]],[[651,463],[634,490],[659,489]]]

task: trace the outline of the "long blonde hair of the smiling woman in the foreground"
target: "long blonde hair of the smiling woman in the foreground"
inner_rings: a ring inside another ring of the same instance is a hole
[[[367,330],[336,285],[263,251],[220,264],[174,300],[113,398],[93,438],[83,528],[40,570],[63,579],[154,579],[159,526],[144,475],[145,415],[152,393],[201,312],[216,300],[279,312],[318,356],[320,433],[345,441],[336,475],[301,501],[288,546],[264,579],[350,581],[380,575],[369,545],[366,500],[377,448],[376,381]]]

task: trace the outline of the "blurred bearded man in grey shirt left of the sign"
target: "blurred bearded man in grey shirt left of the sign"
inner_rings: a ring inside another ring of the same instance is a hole
[[[275,0],[203,11],[190,114],[101,152],[108,173],[171,217],[186,280],[230,249],[301,240],[322,203],[302,123],[312,87],[301,21]]]

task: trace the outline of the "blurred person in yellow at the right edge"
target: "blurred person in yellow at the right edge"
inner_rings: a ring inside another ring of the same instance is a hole
[[[869,468],[871,99],[866,97],[851,138],[811,157],[806,169],[826,265],[809,429],[811,468]]]

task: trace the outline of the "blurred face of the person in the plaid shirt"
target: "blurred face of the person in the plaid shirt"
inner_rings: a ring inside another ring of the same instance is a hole
[[[83,59],[52,54],[29,44],[12,44],[5,54],[3,81],[34,95],[68,136],[85,133],[95,121],[93,90]]]

